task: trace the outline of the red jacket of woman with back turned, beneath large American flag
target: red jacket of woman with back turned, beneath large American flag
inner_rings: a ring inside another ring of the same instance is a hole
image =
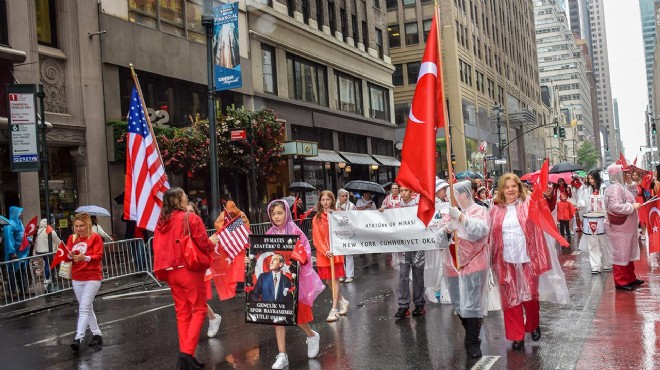
[[[159,220],[154,232],[154,274],[158,279],[163,279],[163,271],[172,267],[178,268],[184,265],[183,248],[179,239],[184,233],[184,217],[186,212],[176,210],[170,214],[167,220]],[[188,223],[190,225],[190,238],[197,247],[207,253],[213,250],[213,244],[206,235],[206,227],[199,216],[188,212]]]

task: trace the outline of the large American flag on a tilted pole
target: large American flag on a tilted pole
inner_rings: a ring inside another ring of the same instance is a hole
[[[140,228],[154,231],[163,205],[163,194],[170,185],[135,87],[127,118],[124,218],[137,221]]]

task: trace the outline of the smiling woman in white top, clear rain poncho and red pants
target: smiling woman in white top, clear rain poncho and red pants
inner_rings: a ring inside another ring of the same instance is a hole
[[[490,209],[492,265],[499,281],[506,339],[523,349],[525,332],[541,339],[539,276],[552,269],[543,231],[528,217],[531,197],[517,175],[500,177]]]

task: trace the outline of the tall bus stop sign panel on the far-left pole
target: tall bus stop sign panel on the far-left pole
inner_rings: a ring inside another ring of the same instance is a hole
[[[7,87],[12,172],[39,171],[36,91],[36,85],[10,84]]]

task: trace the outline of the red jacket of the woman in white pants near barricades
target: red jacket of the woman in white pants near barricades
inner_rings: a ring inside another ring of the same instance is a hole
[[[76,238],[75,234],[69,236],[66,246],[71,252],[80,252],[85,257],[89,257],[89,261],[73,262],[71,267],[71,279],[78,281],[89,280],[103,280],[103,267],[101,261],[103,260],[103,238],[101,235],[92,233],[92,235],[84,238]],[[71,259],[67,259],[71,261]]]

